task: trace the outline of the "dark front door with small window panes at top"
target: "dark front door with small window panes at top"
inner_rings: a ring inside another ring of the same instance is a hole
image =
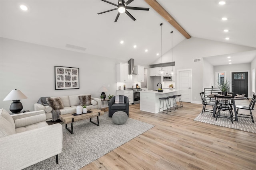
[[[248,97],[248,72],[232,72],[232,93]]]

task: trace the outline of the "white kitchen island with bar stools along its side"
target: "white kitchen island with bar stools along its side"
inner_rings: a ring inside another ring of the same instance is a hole
[[[156,90],[148,90],[140,92],[140,110],[148,111],[150,113],[159,113],[160,99],[168,96],[173,96],[178,94],[181,90],[178,89],[164,89],[163,92],[158,92]],[[172,104],[171,104],[172,106]],[[162,103],[161,103],[162,107]],[[164,109],[166,109],[166,104],[164,102]],[[161,109],[160,111],[162,111]]]

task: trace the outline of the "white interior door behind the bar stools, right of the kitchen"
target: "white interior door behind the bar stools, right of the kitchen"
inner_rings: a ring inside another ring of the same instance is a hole
[[[182,102],[191,102],[191,90],[192,90],[192,70],[180,70],[178,71],[178,89],[181,94]]]

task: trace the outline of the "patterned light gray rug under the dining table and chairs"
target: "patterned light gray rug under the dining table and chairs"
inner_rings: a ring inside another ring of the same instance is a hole
[[[220,115],[228,115],[228,112],[220,112]],[[244,117],[238,117],[238,121],[234,121],[233,117],[233,124],[230,119],[225,118],[225,117],[218,117],[217,121],[215,120],[216,117],[212,117],[212,113],[201,113],[196,116],[194,121],[200,121],[204,123],[209,123],[212,125],[218,125],[218,126],[223,126],[223,127],[228,127],[228,128],[233,128],[233,129],[239,129],[241,131],[246,131],[246,132],[252,132],[256,133],[256,120],[254,118],[254,123],[252,123],[252,119],[244,118]]]

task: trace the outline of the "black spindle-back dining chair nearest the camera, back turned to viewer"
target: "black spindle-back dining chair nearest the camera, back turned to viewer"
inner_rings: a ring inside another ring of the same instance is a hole
[[[221,95],[214,95],[215,100],[216,100],[216,106],[218,109],[217,115],[216,115],[216,119],[218,117],[226,117],[226,118],[230,118],[231,122],[233,123],[233,102],[234,102],[234,97],[235,96],[221,96]],[[220,115],[220,111],[229,111],[229,115]]]

